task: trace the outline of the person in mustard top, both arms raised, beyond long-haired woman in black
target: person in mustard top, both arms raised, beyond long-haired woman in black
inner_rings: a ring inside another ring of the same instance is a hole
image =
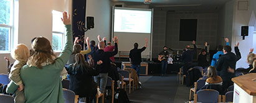
[[[79,43],[77,43],[77,41],[78,41],[78,37],[75,37],[75,42],[74,42],[74,45],[73,45],[73,52],[69,57],[69,61],[68,61],[67,65],[75,63],[75,55],[77,53],[82,53],[82,55],[85,55],[85,54],[91,52],[91,48],[90,48],[90,46],[88,46],[88,45],[90,45],[89,37],[87,37],[86,40],[85,40],[85,42],[87,42],[87,44],[88,44],[87,45],[87,50],[82,50],[82,46]]]

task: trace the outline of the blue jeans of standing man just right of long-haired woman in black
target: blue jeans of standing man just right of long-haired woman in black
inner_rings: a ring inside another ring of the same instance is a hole
[[[104,93],[107,85],[108,73],[100,73],[98,76],[94,76],[94,81],[100,84],[100,92]]]

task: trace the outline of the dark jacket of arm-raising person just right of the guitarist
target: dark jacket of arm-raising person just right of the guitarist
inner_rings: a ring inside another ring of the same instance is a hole
[[[191,63],[193,60],[193,55],[196,52],[197,52],[197,48],[196,48],[196,45],[194,45],[193,50],[187,50],[187,51],[183,52],[183,55],[181,56],[181,60],[183,60],[184,63]]]

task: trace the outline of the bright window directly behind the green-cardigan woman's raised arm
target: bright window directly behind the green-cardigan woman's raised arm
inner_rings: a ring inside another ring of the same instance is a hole
[[[62,12],[52,11],[52,49],[55,52],[62,51],[64,47],[65,27],[61,17]]]

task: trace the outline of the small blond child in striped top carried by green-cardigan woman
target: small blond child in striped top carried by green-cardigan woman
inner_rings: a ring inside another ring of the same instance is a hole
[[[14,102],[23,103],[25,102],[24,86],[22,84],[21,77],[19,76],[22,66],[26,65],[29,58],[29,48],[24,44],[19,44],[11,53],[12,58],[16,60],[11,68],[9,79],[11,79],[19,88],[15,92],[16,96]]]

